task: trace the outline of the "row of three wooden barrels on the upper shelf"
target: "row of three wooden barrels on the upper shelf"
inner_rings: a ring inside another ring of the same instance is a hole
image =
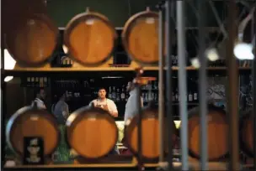
[[[13,3],[10,0],[9,5]],[[29,2],[27,6],[26,2]],[[40,4],[41,2],[41,4]],[[5,47],[20,66],[39,67],[53,60],[60,32],[46,13],[42,0],[24,0],[17,15],[4,20]],[[19,2],[16,2],[19,3]],[[8,6],[8,3],[5,4]],[[13,6],[12,6],[13,7]],[[7,8],[10,9],[10,8]],[[12,10],[13,11],[13,8]],[[158,14],[147,8],[125,23],[122,43],[131,60],[140,65],[157,65]],[[63,36],[67,56],[80,65],[97,67],[108,61],[118,41],[115,26],[101,13],[86,8],[66,26]]]

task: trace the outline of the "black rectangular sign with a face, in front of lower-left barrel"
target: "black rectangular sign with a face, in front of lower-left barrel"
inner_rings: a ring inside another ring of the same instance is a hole
[[[44,140],[41,137],[24,137],[24,164],[44,164]]]

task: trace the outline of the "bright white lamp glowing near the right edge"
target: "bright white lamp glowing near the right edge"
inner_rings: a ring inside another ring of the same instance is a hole
[[[235,54],[238,60],[253,60],[253,44],[236,44],[233,53]]]

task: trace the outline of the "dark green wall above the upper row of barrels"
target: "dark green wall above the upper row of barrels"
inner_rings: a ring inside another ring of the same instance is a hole
[[[159,0],[49,0],[47,1],[48,13],[59,27],[65,27],[67,22],[71,20],[77,13],[83,13],[87,7],[93,11],[104,14],[109,20],[115,24],[115,27],[123,27],[125,21],[131,15],[144,11],[146,7],[155,10],[155,5]],[[216,10],[220,18],[225,18],[226,13],[224,1],[215,1]],[[195,0],[185,2],[186,9],[186,25],[188,27],[196,27]],[[211,11],[210,5],[207,3],[207,26],[216,27],[216,18]]]

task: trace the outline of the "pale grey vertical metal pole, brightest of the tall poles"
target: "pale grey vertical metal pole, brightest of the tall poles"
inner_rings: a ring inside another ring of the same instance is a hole
[[[179,115],[181,117],[181,161],[182,170],[189,170],[188,158],[188,109],[187,71],[185,60],[184,1],[177,1],[178,59],[179,59]]]

